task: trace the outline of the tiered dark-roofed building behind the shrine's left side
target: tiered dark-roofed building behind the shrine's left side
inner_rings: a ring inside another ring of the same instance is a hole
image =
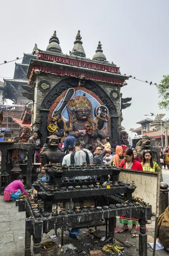
[[[23,124],[30,125],[30,120],[32,119],[32,114],[29,108],[26,106],[28,103],[28,98],[25,94],[29,94],[23,89],[23,85],[28,84],[28,79],[26,78],[27,70],[29,67],[29,62],[32,58],[37,56],[37,45],[31,54],[24,53],[22,63],[15,63],[14,78],[13,79],[3,79],[0,82],[0,102],[4,102],[6,99],[10,99],[15,105],[15,107],[7,107],[3,111],[3,123],[2,128],[10,129],[13,131],[13,138],[19,136],[19,130]],[[2,90],[1,90],[2,84]],[[32,102],[32,101],[29,101]],[[3,103],[1,103],[3,104]]]

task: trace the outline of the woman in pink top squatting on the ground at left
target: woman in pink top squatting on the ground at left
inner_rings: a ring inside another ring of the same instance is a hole
[[[23,186],[25,179],[26,177],[24,175],[20,175],[17,180],[12,181],[4,190],[3,199],[8,201],[17,200],[20,192],[24,193],[24,195],[28,195]]]

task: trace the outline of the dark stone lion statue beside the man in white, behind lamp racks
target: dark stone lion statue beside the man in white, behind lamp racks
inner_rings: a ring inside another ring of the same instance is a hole
[[[59,138],[56,135],[46,137],[46,143],[40,152],[41,166],[50,163],[62,163],[64,152],[59,144]]]

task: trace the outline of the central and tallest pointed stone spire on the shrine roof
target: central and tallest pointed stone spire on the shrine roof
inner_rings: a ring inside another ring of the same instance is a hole
[[[74,41],[74,47],[70,55],[75,55],[79,57],[86,57],[86,53],[83,49],[83,42],[81,41],[82,37],[80,36],[80,30],[78,30],[76,35],[76,40]]]

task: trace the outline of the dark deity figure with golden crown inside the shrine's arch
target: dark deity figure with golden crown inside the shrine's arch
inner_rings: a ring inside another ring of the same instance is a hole
[[[86,96],[76,96],[70,99],[67,109],[69,121],[64,123],[57,111],[55,111],[53,118],[58,127],[62,124],[60,128],[69,130],[69,134],[77,140],[83,140],[86,145],[91,143],[94,145],[97,138],[103,139],[108,136],[100,131],[93,121],[92,103]]]

